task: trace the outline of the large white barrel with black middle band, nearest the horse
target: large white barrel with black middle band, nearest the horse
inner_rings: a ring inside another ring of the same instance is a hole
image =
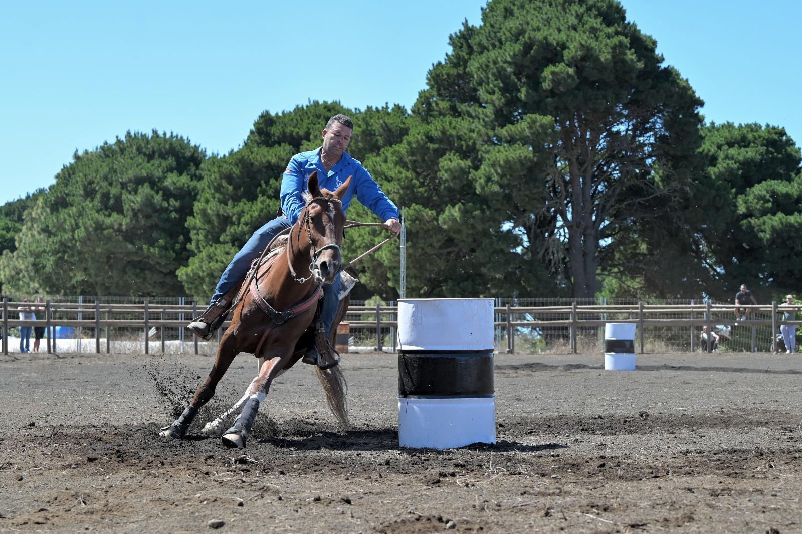
[[[399,301],[399,445],[496,443],[493,299]]]

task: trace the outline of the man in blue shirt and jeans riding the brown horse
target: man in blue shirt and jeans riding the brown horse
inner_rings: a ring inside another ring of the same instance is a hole
[[[348,209],[351,199],[356,196],[359,202],[385,221],[387,229],[396,234],[401,231],[398,208],[387,198],[370,172],[346,152],[353,131],[354,123],[351,119],[346,115],[334,115],[322,132],[322,147],[293,156],[282,177],[281,212],[275,219],[253,233],[245,246],[233,257],[229,266],[223,271],[220,281],[217,282],[209,308],[199,318],[189,323],[189,330],[201,339],[209,339],[220,328],[253,260],[260,256],[273,237],[282,230],[290,228],[298,220],[298,215],[306,204],[303,198],[306,182],[314,171],[318,172],[320,187],[331,191],[352,176],[348,191],[342,198],[343,211]],[[329,337],[337,314],[341,285],[342,279],[338,273],[332,284],[323,286],[320,314],[326,338]],[[319,361],[314,342],[310,344],[304,361],[309,363]]]

